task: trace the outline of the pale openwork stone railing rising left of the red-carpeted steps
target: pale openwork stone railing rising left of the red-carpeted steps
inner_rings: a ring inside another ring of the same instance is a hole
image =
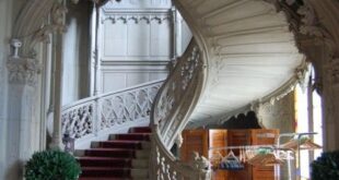
[[[77,146],[77,142],[138,121],[148,121],[153,99],[162,83],[151,82],[62,107],[62,134],[73,137]]]

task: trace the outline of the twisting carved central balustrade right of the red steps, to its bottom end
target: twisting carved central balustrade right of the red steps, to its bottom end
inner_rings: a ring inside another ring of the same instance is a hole
[[[152,154],[151,179],[175,180],[210,179],[206,158],[196,156],[189,165],[183,164],[170,152],[175,139],[188,122],[203,84],[203,51],[192,40],[160,89],[151,115]],[[203,160],[204,159],[204,160]]]

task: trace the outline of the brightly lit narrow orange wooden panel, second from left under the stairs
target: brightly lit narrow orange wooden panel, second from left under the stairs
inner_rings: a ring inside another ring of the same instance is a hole
[[[210,130],[209,131],[209,140],[210,140],[210,148],[212,147],[225,147],[227,146],[227,130]],[[209,151],[209,158],[212,160],[213,167],[218,167],[221,163],[221,158],[219,159],[219,155],[221,154],[223,157],[226,155],[224,149],[222,151]],[[218,158],[218,159],[215,159]],[[226,180],[227,171],[226,170],[215,170],[212,173],[213,180]]]

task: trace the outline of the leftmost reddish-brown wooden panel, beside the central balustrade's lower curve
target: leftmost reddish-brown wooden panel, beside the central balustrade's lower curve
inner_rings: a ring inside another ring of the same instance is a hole
[[[190,161],[192,152],[198,152],[199,155],[208,157],[208,130],[184,130],[183,139],[180,148],[180,158],[183,161]]]

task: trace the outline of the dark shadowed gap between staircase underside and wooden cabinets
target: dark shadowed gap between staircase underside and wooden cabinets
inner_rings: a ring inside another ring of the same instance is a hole
[[[237,117],[232,117],[222,124],[224,129],[261,129],[258,123],[257,116],[254,111],[246,115],[241,113]]]

